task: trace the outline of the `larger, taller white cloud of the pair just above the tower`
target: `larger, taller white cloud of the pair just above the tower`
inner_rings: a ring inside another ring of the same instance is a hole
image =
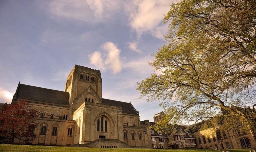
[[[119,73],[122,69],[119,57],[121,51],[112,42],[104,43],[102,49],[107,52],[105,64],[110,66],[114,74]]]

